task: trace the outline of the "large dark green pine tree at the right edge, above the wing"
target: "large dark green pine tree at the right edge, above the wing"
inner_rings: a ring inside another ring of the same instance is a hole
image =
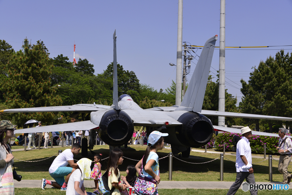
[[[292,53],[277,52],[260,61],[250,73],[248,84],[241,80],[244,95],[240,104],[244,113],[292,117]],[[266,121],[272,132],[273,125],[291,125],[288,121]],[[258,121],[256,121],[256,126]]]

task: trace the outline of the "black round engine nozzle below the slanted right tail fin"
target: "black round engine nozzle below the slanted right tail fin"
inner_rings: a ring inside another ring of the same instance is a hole
[[[178,118],[183,125],[175,127],[175,134],[180,143],[189,147],[206,145],[212,138],[213,125],[204,115],[187,112]]]

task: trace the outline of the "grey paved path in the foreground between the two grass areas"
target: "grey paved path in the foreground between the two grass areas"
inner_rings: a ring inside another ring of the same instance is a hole
[[[281,184],[282,182],[256,182],[256,184]],[[192,182],[192,181],[161,181],[158,184],[159,189],[229,189],[233,182]],[[290,185],[290,184],[289,184]],[[40,188],[41,180],[21,180],[20,182],[14,180],[16,188]],[[93,188],[93,180],[85,180],[84,187]],[[52,186],[47,185],[47,188]],[[290,186],[289,186],[290,188]]]

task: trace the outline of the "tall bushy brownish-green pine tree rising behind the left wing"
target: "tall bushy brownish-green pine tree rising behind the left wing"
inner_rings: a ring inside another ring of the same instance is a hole
[[[50,87],[53,66],[48,65],[49,57],[42,48],[40,44],[35,45],[33,49],[25,46],[24,51],[14,53],[6,65],[8,78],[1,80],[0,87],[9,108],[61,105],[61,98],[55,96],[56,87]],[[56,118],[56,114],[13,113],[12,118],[18,127],[21,127],[30,119],[51,123]]]

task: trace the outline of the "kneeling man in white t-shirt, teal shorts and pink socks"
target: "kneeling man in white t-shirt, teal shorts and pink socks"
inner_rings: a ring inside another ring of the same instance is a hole
[[[80,149],[81,146],[79,144],[73,144],[71,149],[64,150],[55,158],[49,168],[49,173],[51,177],[54,178],[55,182],[43,179],[41,182],[41,189],[45,189],[46,185],[49,184],[55,188],[61,189],[61,191],[66,191],[69,177],[77,168],[77,163],[74,163],[73,155],[78,155]],[[67,167],[68,164],[71,167]],[[67,177],[64,179],[66,175]]]

